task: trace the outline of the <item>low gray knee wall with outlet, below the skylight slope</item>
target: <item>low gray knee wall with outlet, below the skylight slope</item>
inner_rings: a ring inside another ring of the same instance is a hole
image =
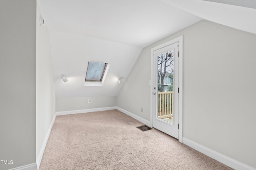
[[[88,103],[88,99],[91,100]],[[116,106],[116,96],[56,98],[56,111],[72,111]]]

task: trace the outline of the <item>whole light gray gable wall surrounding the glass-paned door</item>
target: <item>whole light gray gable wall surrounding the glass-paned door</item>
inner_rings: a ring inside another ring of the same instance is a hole
[[[144,48],[117,106],[150,120],[150,49],[180,35],[183,136],[256,168],[255,34],[202,20]]]

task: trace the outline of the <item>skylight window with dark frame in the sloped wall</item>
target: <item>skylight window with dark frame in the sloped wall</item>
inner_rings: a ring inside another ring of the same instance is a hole
[[[88,62],[85,81],[101,82],[107,63]]]

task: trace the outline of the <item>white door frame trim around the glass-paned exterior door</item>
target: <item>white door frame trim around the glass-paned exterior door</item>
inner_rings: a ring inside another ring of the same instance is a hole
[[[153,127],[153,97],[154,97],[154,94],[153,94],[153,66],[154,66],[154,55],[153,55],[153,52],[158,50],[158,49],[161,49],[163,47],[166,47],[168,45],[172,45],[174,43],[177,43],[179,42],[179,76],[178,76],[178,79],[179,79],[179,106],[178,106],[178,115],[179,115],[179,142],[182,143],[182,138],[183,138],[183,123],[182,123],[182,120],[183,120],[183,117],[182,117],[182,106],[183,106],[183,84],[182,84],[182,78],[183,78],[183,35],[181,35],[180,37],[177,37],[175,39],[172,39],[170,41],[167,41],[166,43],[163,43],[161,45],[158,45],[156,47],[153,47],[151,49],[151,86],[150,86],[150,94],[151,94],[151,97],[150,97],[150,127]]]

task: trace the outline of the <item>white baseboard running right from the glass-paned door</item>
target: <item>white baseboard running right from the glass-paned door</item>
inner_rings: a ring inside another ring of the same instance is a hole
[[[211,158],[214,158],[215,160],[218,160],[222,164],[225,164],[227,166],[230,166],[231,168],[234,168],[235,170],[256,170],[251,166],[238,162],[237,160],[234,160],[228,156],[225,156],[224,154],[220,154],[212,149],[204,147],[203,145],[195,143],[194,141],[186,139],[185,137],[183,137],[183,143]]]

